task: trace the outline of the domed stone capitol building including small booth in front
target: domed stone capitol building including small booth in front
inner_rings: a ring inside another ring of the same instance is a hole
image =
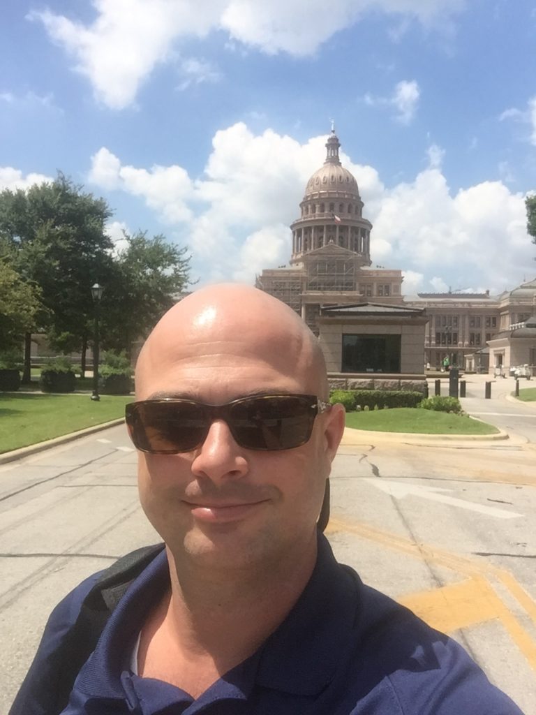
[[[496,296],[404,295],[401,270],[372,267],[372,223],[339,147],[332,129],[290,227],[289,264],[263,270],[256,282],[307,322],[329,373],[411,381],[448,358],[467,371],[530,365],[536,375],[536,278]]]

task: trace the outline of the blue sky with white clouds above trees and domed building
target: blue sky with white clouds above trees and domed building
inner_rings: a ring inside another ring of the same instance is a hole
[[[536,275],[534,0],[4,0],[2,20],[0,188],[60,169],[114,238],[252,282],[288,261],[334,119],[405,292]]]

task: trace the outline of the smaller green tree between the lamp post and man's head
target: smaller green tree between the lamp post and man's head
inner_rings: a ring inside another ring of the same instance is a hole
[[[162,235],[139,231],[125,233],[124,240],[102,298],[101,335],[103,347],[129,354],[132,342],[148,335],[189,284],[190,256]]]

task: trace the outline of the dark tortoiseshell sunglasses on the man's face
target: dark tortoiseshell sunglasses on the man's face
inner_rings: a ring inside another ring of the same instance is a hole
[[[331,408],[316,395],[259,395],[225,405],[164,398],[129,403],[126,425],[134,446],[150,454],[189,452],[204,442],[214,420],[224,420],[245,449],[284,450],[304,445],[314,418]]]

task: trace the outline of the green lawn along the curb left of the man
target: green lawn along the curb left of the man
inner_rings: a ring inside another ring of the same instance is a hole
[[[0,393],[0,453],[43,442],[124,415],[129,395]]]

